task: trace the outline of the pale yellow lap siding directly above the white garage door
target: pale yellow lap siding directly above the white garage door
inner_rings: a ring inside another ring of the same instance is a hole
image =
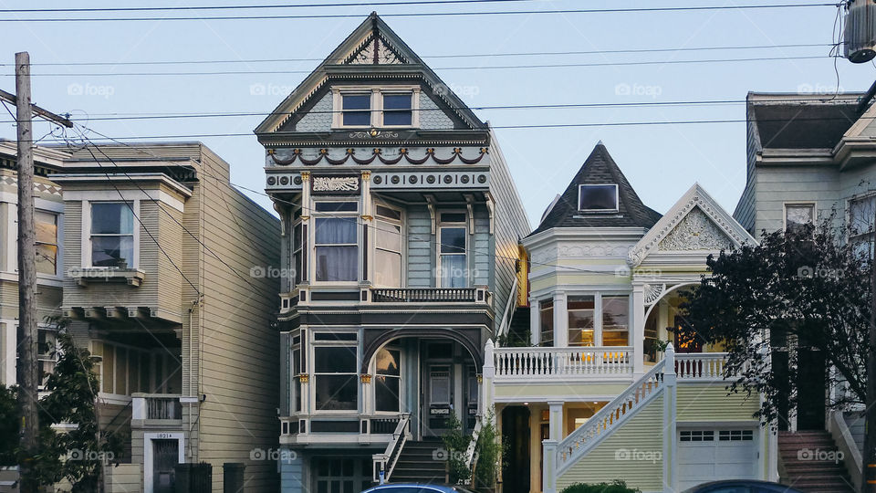
[[[745,393],[727,394],[726,383],[679,383],[679,421],[746,421],[760,407],[757,394],[746,399]]]

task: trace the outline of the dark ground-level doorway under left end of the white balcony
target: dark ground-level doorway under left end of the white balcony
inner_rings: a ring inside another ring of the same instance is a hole
[[[526,407],[515,405],[502,411],[502,441],[507,447],[502,490],[505,493],[528,493],[529,410]]]

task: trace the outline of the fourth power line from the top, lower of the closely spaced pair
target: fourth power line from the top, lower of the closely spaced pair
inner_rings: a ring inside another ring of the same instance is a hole
[[[819,58],[837,58],[830,55],[799,56],[799,57],[756,57],[756,58],[705,58],[697,60],[638,60],[627,62],[592,62],[592,63],[545,63],[528,65],[485,65],[485,66],[454,66],[438,67],[434,70],[507,70],[522,68],[578,68],[578,67],[627,67],[639,65],[683,65],[698,63],[738,63],[759,61],[808,60]],[[32,74],[33,77],[184,77],[184,76],[225,76],[225,75],[287,75],[309,74],[313,70],[214,70],[210,72],[49,72]],[[2,77],[13,77],[3,74]]]

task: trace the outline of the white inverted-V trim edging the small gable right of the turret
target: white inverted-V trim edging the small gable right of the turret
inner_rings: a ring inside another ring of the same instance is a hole
[[[732,241],[734,247],[756,244],[755,238],[749,235],[733,216],[727,214],[724,208],[718,205],[700,184],[694,184],[669,212],[662,216],[648,234],[643,236],[635,247],[632,247],[627,257],[627,263],[631,267],[641,265],[642,260],[658,250],[662,241],[673,233],[694,208],[698,208],[711,220],[714,226],[717,226],[717,229]]]

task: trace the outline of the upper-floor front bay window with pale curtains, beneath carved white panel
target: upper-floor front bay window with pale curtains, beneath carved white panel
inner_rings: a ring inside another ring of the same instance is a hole
[[[359,280],[359,222],[355,202],[318,202],[314,219],[315,280]],[[350,214],[352,213],[352,214]]]

